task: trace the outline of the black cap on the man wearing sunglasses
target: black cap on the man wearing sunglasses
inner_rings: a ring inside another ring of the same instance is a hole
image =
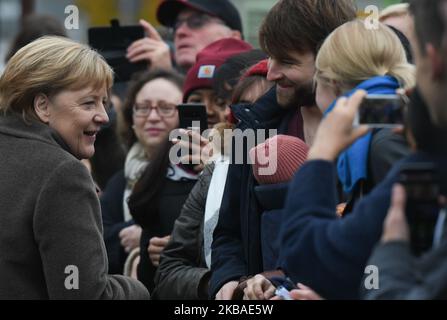
[[[172,27],[184,9],[193,9],[217,17],[231,29],[242,33],[241,16],[229,0],[165,0],[157,9],[157,19],[162,25]]]

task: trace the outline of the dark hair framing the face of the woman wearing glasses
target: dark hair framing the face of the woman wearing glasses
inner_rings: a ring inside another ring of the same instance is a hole
[[[136,74],[132,78],[131,83],[129,84],[129,89],[127,91],[126,100],[123,104],[122,118],[118,120],[118,132],[127,148],[131,148],[132,145],[137,141],[135,132],[132,129],[132,112],[137,94],[146,83],[158,78],[163,78],[172,82],[180,89],[180,91],[182,91],[183,89],[184,77],[176,71],[164,69],[144,71],[142,73]]]

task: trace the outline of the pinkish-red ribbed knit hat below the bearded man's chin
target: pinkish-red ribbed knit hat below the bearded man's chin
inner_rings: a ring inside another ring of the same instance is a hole
[[[253,174],[259,184],[292,180],[307,159],[309,147],[296,137],[277,135],[250,150]]]

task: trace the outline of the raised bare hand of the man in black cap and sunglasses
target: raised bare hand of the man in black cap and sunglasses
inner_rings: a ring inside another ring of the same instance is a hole
[[[144,28],[146,37],[134,41],[127,48],[127,59],[130,62],[146,61],[149,68],[172,69],[169,46],[149,22],[140,20],[140,25]]]

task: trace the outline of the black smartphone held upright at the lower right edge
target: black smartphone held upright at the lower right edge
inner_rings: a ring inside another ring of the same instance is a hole
[[[420,256],[433,246],[435,227],[442,210],[439,175],[431,163],[406,164],[400,171],[399,182],[407,195],[411,251]]]

